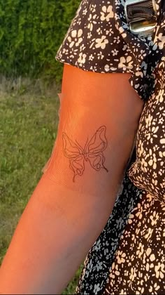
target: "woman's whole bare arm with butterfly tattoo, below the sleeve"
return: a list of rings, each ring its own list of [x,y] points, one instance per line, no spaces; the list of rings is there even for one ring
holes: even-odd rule
[[[106,225],[143,109],[129,76],[64,65],[55,149],[3,259],[2,294],[61,294]]]

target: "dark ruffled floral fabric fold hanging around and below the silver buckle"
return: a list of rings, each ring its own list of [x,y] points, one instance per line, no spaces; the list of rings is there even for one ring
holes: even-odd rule
[[[146,101],[155,89],[155,67],[164,56],[164,51],[157,46],[159,28],[155,27],[152,36],[137,37],[129,29],[123,4],[116,5],[116,2],[113,1],[113,11],[115,13],[115,27],[136,60],[134,73],[131,74],[129,82],[141,99]],[[157,25],[160,21],[159,6],[157,6]]]

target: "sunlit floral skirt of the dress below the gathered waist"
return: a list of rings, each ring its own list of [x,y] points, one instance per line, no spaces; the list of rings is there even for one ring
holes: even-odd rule
[[[165,294],[165,204],[141,195],[127,219],[103,294]]]

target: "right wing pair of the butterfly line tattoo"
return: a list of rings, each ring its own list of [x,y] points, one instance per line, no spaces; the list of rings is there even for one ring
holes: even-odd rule
[[[96,171],[99,171],[101,168],[106,169],[103,165],[105,162],[103,150],[106,149],[107,144],[106,126],[101,126],[94,133],[85,150],[87,160]],[[108,172],[108,169],[106,171]]]

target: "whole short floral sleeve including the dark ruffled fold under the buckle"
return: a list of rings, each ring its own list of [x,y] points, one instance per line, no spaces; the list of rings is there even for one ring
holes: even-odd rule
[[[152,46],[150,37],[131,34],[124,1],[82,0],[55,58],[86,71],[131,73],[131,86],[148,100],[159,60]]]

